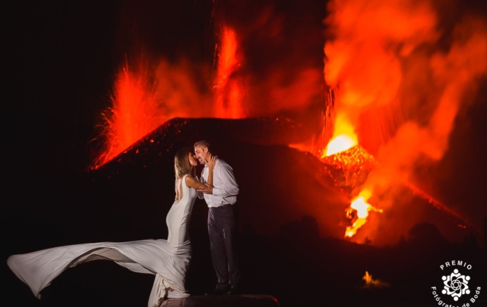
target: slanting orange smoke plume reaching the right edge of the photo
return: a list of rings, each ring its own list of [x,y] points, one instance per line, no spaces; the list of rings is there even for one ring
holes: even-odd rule
[[[422,156],[434,161],[442,158],[455,120],[461,120],[459,112],[468,109],[479,80],[487,74],[487,24],[478,19],[463,19],[453,36],[449,52],[434,52],[429,67],[424,68],[433,76],[431,82],[422,85],[423,93],[426,89],[433,93],[422,101],[429,104],[430,111],[408,114],[406,123],[378,153],[387,168],[401,174],[399,178],[407,179],[408,171]],[[407,95],[401,97],[401,102],[408,104]]]

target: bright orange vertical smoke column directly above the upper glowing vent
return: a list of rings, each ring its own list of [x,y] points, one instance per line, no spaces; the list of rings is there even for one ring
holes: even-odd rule
[[[369,150],[383,141],[388,128],[365,133],[367,116],[393,107],[403,82],[402,61],[415,48],[432,42],[436,14],[418,1],[332,1],[324,20],[330,37],[324,47],[325,81],[336,89],[336,113],[356,123],[359,139]],[[372,110],[372,111],[371,111]],[[369,112],[369,113],[367,113]],[[387,126],[393,118],[377,120]]]

